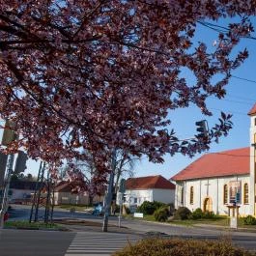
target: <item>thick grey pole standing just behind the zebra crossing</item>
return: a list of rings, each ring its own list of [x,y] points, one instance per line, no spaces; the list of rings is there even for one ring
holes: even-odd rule
[[[112,201],[115,169],[116,169],[116,150],[113,151],[112,157],[111,157],[111,172],[109,174],[107,194],[105,196],[105,209],[104,209],[104,217],[103,217],[103,225],[102,225],[103,232],[107,232],[108,216],[110,213],[110,206]]]

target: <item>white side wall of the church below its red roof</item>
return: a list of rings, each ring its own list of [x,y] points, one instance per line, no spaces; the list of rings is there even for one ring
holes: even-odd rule
[[[229,199],[229,182],[230,181],[241,181],[242,182],[242,204],[240,208],[240,214],[252,214],[250,211],[250,204],[252,198],[250,196],[250,186],[249,186],[249,204],[244,205],[243,202],[243,185],[247,183],[249,185],[249,175],[244,176],[229,176],[221,178],[212,178],[212,179],[200,179],[200,180],[191,180],[185,182],[179,182],[176,185],[176,194],[175,194],[175,208],[179,206],[185,206],[190,211],[194,211],[197,208],[203,210],[204,200],[206,197],[211,197],[213,200],[213,212],[218,214],[227,214],[228,208],[227,205],[223,203],[223,187],[228,185],[228,199]],[[208,185],[209,184],[209,185]],[[194,187],[194,202],[190,204],[190,187]],[[182,187],[184,187],[184,205],[182,204]],[[209,187],[209,190],[208,190]]]

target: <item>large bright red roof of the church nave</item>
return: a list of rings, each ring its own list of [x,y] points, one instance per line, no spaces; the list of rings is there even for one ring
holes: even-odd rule
[[[173,181],[249,174],[249,147],[201,156],[171,178]]]

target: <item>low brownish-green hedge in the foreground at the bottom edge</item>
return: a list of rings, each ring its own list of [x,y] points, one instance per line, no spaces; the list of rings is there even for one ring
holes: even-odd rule
[[[231,242],[198,241],[182,239],[150,239],[130,244],[113,256],[255,256],[232,245]]]

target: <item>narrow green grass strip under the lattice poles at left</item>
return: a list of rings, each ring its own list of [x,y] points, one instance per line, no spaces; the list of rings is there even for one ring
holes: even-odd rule
[[[45,224],[43,222],[31,222],[27,220],[14,220],[14,221],[6,221],[5,228],[17,228],[17,229],[58,229],[62,230],[63,227],[59,224],[48,223]]]

